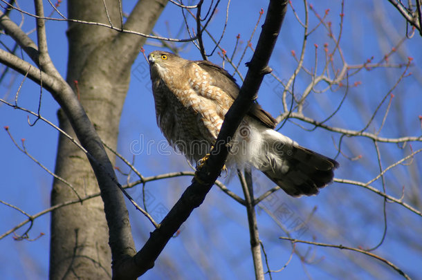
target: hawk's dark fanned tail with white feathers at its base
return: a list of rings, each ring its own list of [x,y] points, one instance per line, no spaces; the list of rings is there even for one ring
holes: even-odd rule
[[[251,153],[248,162],[287,194],[291,196],[318,194],[319,188],[325,187],[333,180],[333,170],[339,166],[336,160],[300,147],[273,129],[260,126],[256,132],[259,133],[257,137],[261,147],[257,147],[255,139],[255,147],[252,147],[255,151]]]

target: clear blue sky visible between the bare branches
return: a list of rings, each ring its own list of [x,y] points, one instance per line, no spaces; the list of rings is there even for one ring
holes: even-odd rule
[[[356,5],[356,2],[358,2],[358,5]],[[340,46],[346,61],[350,65],[361,64],[371,56],[374,56],[374,62],[378,62],[383,59],[385,53],[396,46],[398,40],[405,34],[404,20],[387,3],[382,6],[380,1],[356,2],[346,1],[345,3],[345,24]],[[26,6],[27,3],[21,4],[25,5],[22,7],[24,9],[33,10],[33,7]],[[127,5],[125,11],[129,12],[131,7],[129,4]],[[215,37],[219,37],[223,29],[226,17],[226,6],[224,5],[226,5],[226,1],[221,2],[217,15],[209,26],[210,32]],[[266,9],[266,6],[266,1],[242,3],[232,1],[229,7],[225,36],[221,41],[221,46],[227,50],[229,55],[232,54],[238,34],[241,35],[243,41],[243,44],[241,44],[241,50],[243,50],[245,41],[250,37],[256,24],[259,10],[261,8]],[[333,33],[338,35],[340,1],[321,1],[318,2],[318,6],[316,3],[314,6],[320,15],[323,15],[327,8],[330,9],[328,20],[333,23]],[[295,9],[303,19],[303,4],[295,3]],[[61,10],[66,14],[66,5],[62,4]],[[49,10],[47,11],[46,15],[49,13]],[[169,4],[154,31],[163,36],[176,34],[181,26],[181,19],[174,15],[179,15],[179,13],[179,8]],[[389,20],[377,24],[378,13],[385,15],[384,18]],[[20,19],[17,13],[12,14],[12,18],[16,21]],[[310,15],[310,23],[311,26],[315,26],[318,21]],[[33,26],[33,19],[27,18],[23,29],[28,31]],[[59,72],[65,77],[66,23],[51,21],[48,22],[47,28],[48,48],[51,57]],[[31,36],[35,38],[34,35]],[[256,44],[258,35],[259,27],[253,38],[253,46]],[[1,37],[3,39],[4,35],[1,35]],[[186,32],[183,32],[182,37],[187,37]],[[288,80],[296,66],[291,50],[295,50],[295,53],[299,55],[302,40],[303,28],[300,24],[297,24],[289,7],[282,32],[270,61],[274,73],[284,82]],[[10,43],[7,40],[5,41]],[[324,60],[323,46],[326,42],[329,43],[329,50],[332,50],[333,43],[327,36],[327,31],[323,28],[318,28],[309,36],[304,62],[307,68],[313,69],[315,64],[314,44],[318,44],[316,53],[318,55],[318,68],[321,69]],[[151,44],[157,44],[157,42],[149,41],[149,44],[145,46],[146,53],[157,48]],[[204,44],[208,51],[214,47],[214,44],[208,38],[205,38]],[[421,122],[418,118],[419,115],[422,115],[421,44],[421,37],[415,34],[412,39],[408,39],[398,48],[396,54],[389,58],[389,62],[392,64],[406,63],[407,56],[414,60],[410,68],[412,76],[406,77],[393,92],[395,97],[392,99],[390,113],[380,136],[398,138],[421,135]],[[187,44],[185,50],[181,52],[181,56],[187,59],[200,59],[199,51],[192,44]],[[239,56],[240,54],[237,53],[237,59],[239,59]],[[239,67],[242,75],[245,75],[247,71],[244,62],[247,62],[251,56],[252,53],[248,50]],[[235,59],[236,62],[237,59]],[[210,60],[221,64],[221,58],[217,53],[210,57]],[[336,67],[341,65],[339,57],[335,57],[335,64]],[[232,73],[232,68],[228,66],[226,68]],[[342,108],[338,111],[336,117],[327,124],[356,130],[365,127],[371,113],[389,89],[394,86],[402,72],[403,69],[397,68],[376,68],[371,71],[361,71],[358,75],[350,77],[349,84],[354,84],[354,82],[362,82],[362,84],[349,88],[347,99]],[[240,83],[239,77],[236,78]],[[7,84],[9,81],[12,81],[12,86]],[[21,81],[21,76],[15,77],[13,73],[9,73],[0,85],[1,98],[14,102],[15,92]],[[295,82],[295,93],[300,96],[300,93],[308,84],[309,75],[300,73],[297,82]],[[118,151],[129,160],[135,153],[136,168],[144,176],[163,174],[169,171],[189,171],[190,167],[183,156],[178,156],[172,152],[172,149],[165,147],[164,138],[156,126],[154,99],[149,86],[147,64],[143,55],[139,55],[132,67],[131,84],[120,122]],[[278,115],[282,111],[282,100],[278,91],[279,84],[275,83],[270,77],[265,78],[259,91],[259,102],[273,115]],[[39,92],[39,86],[26,80],[19,93],[19,105],[37,111]],[[344,88],[313,94],[309,96],[309,104],[304,112],[312,118],[324,120],[336,109],[344,94]],[[387,109],[388,100],[389,97],[385,104],[380,107],[380,113],[376,115],[374,124],[369,127],[369,132],[378,130]],[[41,113],[44,118],[57,124],[55,115],[57,109],[58,106],[49,93],[43,91]],[[10,133],[19,144],[21,139],[24,138],[28,152],[48,169],[53,170],[57,149],[57,131],[41,121],[37,122],[34,127],[28,126],[27,115],[27,113],[11,109],[2,104],[0,105],[0,126],[8,126]],[[30,120],[33,119],[33,117],[30,117]],[[295,121],[295,123],[312,128],[299,121]],[[322,129],[312,132],[305,131],[292,122],[286,122],[282,128],[282,133],[294,138],[305,147],[327,156],[333,157],[337,154],[334,143],[338,143],[340,138],[338,134],[329,133]],[[0,174],[3,176],[0,199],[12,205],[17,205],[30,214],[35,214],[48,207],[52,177],[18,150],[12,144],[6,131],[0,133],[0,143]],[[149,144],[151,149],[136,150],[137,143]],[[337,178],[366,182],[379,174],[376,153],[371,140],[346,138],[342,145],[342,151],[345,155],[349,157],[361,155],[362,158],[351,161],[343,155],[338,156],[337,160],[341,167],[336,173]],[[420,142],[412,143],[413,150],[420,149],[421,146]],[[384,168],[403,158],[410,151],[409,146],[406,146],[405,149],[398,149],[395,144],[379,144],[379,147],[383,156]],[[164,153],[163,149],[165,150]],[[118,166],[122,170],[128,170],[122,162],[118,162]],[[416,156],[414,165],[411,167],[400,166],[389,171],[386,175],[387,186],[389,187],[387,193],[400,197],[401,185],[405,185],[406,194],[421,195],[421,178],[414,176],[415,172],[418,174],[421,169],[421,157]],[[255,172],[255,176],[257,176],[255,180],[257,193],[263,192],[264,189],[271,186],[261,174]],[[125,182],[126,178],[120,176],[120,179]],[[234,192],[241,194],[237,178],[233,177],[229,182],[225,178],[221,178],[221,180],[227,183]],[[172,207],[189,183],[190,178],[188,177],[148,183],[149,203],[147,205],[149,209],[157,217],[160,216],[160,213],[163,213],[161,210],[165,211]],[[382,189],[380,180],[377,180],[373,185]],[[417,191],[418,188],[419,192]],[[414,189],[416,189],[416,192]],[[141,200],[139,187],[132,189],[130,192],[136,200]],[[405,196],[405,201],[410,204],[414,203],[411,198]],[[297,237],[305,240],[315,239],[326,243],[370,248],[376,245],[383,235],[383,200],[356,186],[334,183],[323,189],[319,196],[300,199],[288,198],[281,192],[277,192],[276,196],[273,197],[273,203],[268,201],[262,206],[275,215],[279,213],[277,211],[280,209],[291,212],[288,218],[279,216],[278,220],[288,230],[293,230],[294,221],[304,221],[306,227]],[[128,207],[131,212],[137,249],[140,249],[149,231],[152,230],[152,226],[145,221],[143,216],[132,211],[131,205],[128,205]],[[313,209],[316,210],[313,211]],[[366,211],[362,211],[363,209]],[[260,236],[268,254],[270,267],[274,270],[282,268],[289,259],[291,247],[286,241],[277,239],[278,236],[285,235],[277,226],[277,223],[264,212],[264,209],[259,208],[257,211]],[[25,219],[24,215],[5,205],[0,205],[0,213],[0,234]],[[311,213],[314,214],[310,218]],[[420,237],[418,239],[420,229],[419,232],[412,232],[412,230],[414,230],[414,225],[421,224],[421,217],[403,209],[400,205],[389,203],[387,203],[387,217],[389,222],[387,238],[383,245],[374,252],[396,263],[410,275],[417,277],[417,267],[422,261],[422,253],[418,246],[412,246],[411,241],[419,241],[420,243]],[[407,228],[412,230],[406,230]],[[17,242],[13,241],[11,236],[0,240],[0,248],[3,249],[3,252],[8,252],[8,254],[0,256],[0,261],[3,263],[2,268],[0,268],[1,279],[46,279],[48,276],[48,215],[37,218],[30,231],[30,237],[36,238],[40,233],[45,235],[37,241]],[[407,240],[409,240],[409,243],[406,243]],[[300,247],[302,252],[306,252],[308,248],[307,246],[297,246]],[[286,269],[273,274],[273,279],[282,279],[283,277],[284,279],[291,279],[292,277],[306,279],[306,273],[311,274],[314,279],[336,279],[326,269],[338,269],[340,270],[338,274],[341,274],[343,265],[345,272],[354,269],[356,279],[373,279],[374,275],[359,272],[360,269],[356,268],[362,265],[362,261],[374,265],[376,268],[380,263],[357,253],[351,253],[351,261],[347,258],[348,254],[343,251],[339,252],[337,249],[311,248],[308,256],[311,265],[302,265],[300,259],[293,256]],[[172,265],[169,265],[169,263]],[[206,198],[204,205],[196,209],[185,223],[180,236],[169,242],[163,255],[158,259],[156,268],[147,272],[145,279],[166,279],[166,273],[169,273],[172,269],[181,273],[185,279],[205,279],[205,276],[210,277],[210,275],[214,276],[214,279],[251,279],[253,266],[244,207],[238,205],[214,187]],[[34,273],[37,278],[34,278]],[[396,277],[398,277],[396,272],[386,268],[385,265],[381,265],[380,273],[379,275],[387,277],[386,279],[397,279]]]

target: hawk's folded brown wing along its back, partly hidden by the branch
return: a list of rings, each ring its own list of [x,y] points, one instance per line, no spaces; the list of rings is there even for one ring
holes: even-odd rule
[[[198,60],[195,63],[201,66],[203,70],[210,73],[211,77],[214,78],[212,86],[221,88],[224,92],[228,93],[233,100],[236,99],[237,95],[239,95],[240,88],[236,84],[236,80],[232,77],[232,75],[220,66],[206,60]],[[262,109],[257,102],[253,103],[248,114],[262,122],[266,127],[270,127],[271,129],[275,128],[276,120],[270,115],[270,113]]]

